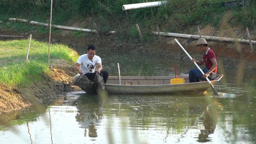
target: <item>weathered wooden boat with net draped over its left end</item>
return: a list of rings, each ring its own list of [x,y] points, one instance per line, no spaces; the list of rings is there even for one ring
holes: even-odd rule
[[[216,84],[223,74],[217,75],[212,84]],[[74,85],[79,86],[82,90],[93,93],[96,92],[96,86],[93,82],[84,80],[86,76],[82,76],[79,82]],[[180,94],[180,93],[198,93],[204,92],[210,85],[207,81],[189,83],[188,76],[180,78],[185,79],[185,83],[170,84],[172,76],[121,76],[121,84],[119,84],[118,76],[109,76],[108,82],[105,84],[109,94]],[[83,80],[83,81],[81,81]]]

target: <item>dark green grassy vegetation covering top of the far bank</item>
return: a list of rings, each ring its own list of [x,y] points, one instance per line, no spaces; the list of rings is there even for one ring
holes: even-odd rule
[[[140,41],[136,23],[140,26],[144,42],[154,41],[150,32],[156,31],[157,25],[164,32],[186,32],[192,26],[207,24],[218,28],[225,19],[231,26],[256,29],[255,0],[233,5],[227,3],[230,0],[168,0],[168,4],[160,7],[122,10],[123,4],[152,1],[155,0],[54,0],[52,23],[62,25],[70,20],[77,23],[86,21],[82,27],[95,29],[95,22],[103,34],[116,30],[116,41],[122,42]],[[47,23],[50,16],[50,1],[2,0],[0,7],[2,21],[18,17]],[[231,14],[224,18],[228,12]]]

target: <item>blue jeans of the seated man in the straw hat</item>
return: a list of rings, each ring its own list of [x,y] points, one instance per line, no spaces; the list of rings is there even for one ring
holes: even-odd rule
[[[208,72],[208,68],[204,68],[203,72]],[[216,74],[214,72],[210,73],[208,76],[209,80],[214,80],[216,78]],[[189,70],[189,82],[199,82],[200,80],[206,81],[206,78],[203,77],[203,74],[197,68],[191,68]]]

